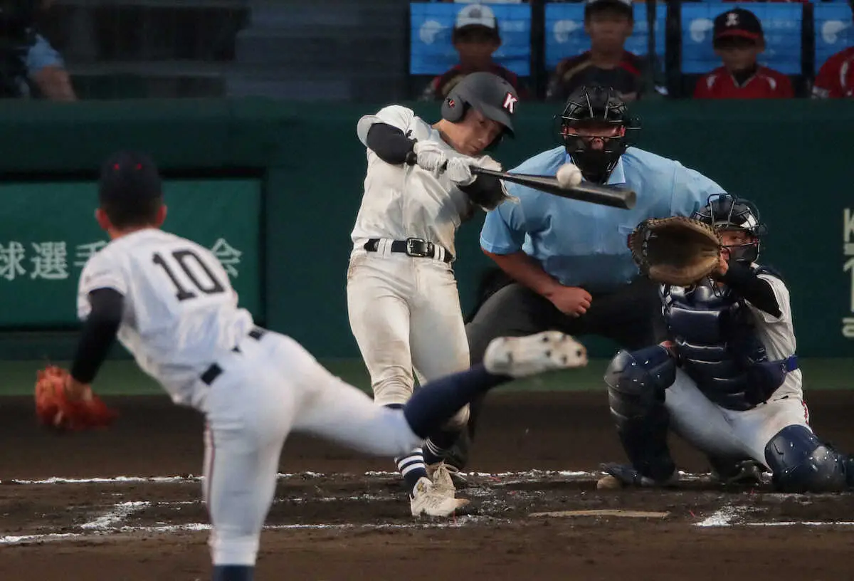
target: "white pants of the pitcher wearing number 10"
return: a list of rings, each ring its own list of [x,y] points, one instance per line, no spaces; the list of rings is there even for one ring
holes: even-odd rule
[[[395,457],[423,441],[401,410],[377,408],[363,391],[321,367],[290,337],[245,338],[218,361],[223,373],[200,403],[207,419],[203,495],[214,565],[254,565],[290,431]]]

